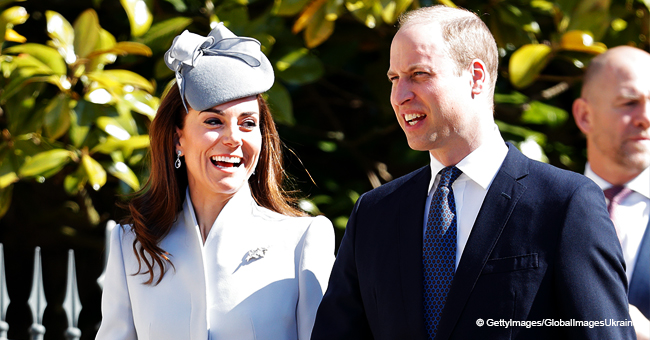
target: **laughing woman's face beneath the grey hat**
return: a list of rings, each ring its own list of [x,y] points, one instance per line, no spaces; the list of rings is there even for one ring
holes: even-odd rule
[[[189,108],[185,126],[176,128],[176,150],[185,156],[193,195],[232,196],[247,183],[262,147],[259,125],[260,109],[255,96],[204,111]]]

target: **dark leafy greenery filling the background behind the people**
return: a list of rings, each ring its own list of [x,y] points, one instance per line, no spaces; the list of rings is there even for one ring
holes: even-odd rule
[[[63,339],[67,327],[68,249],[76,252],[82,339],[94,338],[104,226],[124,216],[116,202],[147,176],[147,127],[173,78],[162,56],[174,36],[184,29],[205,35],[224,21],[262,42],[276,71],[269,101],[301,207],[329,217],[340,241],[361,193],[428,163],[406,144],[385,74],[397,16],[436,3],[0,0],[0,242],[12,301],[9,337],[28,338],[26,301],[40,246],[45,338]],[[584,139],[570,110],[584,67],[607,47],[647,49],[650,1],[440,3],[478,13],[497,39],[495,116],[504,137],[532,158],[582,172]],[[69,29],[52,24],[61,18]]]

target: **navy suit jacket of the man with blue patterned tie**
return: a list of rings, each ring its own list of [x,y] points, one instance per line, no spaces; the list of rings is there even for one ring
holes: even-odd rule
[[[436,340],[634,339],[629,326],[487,325],[630,319],[623,255],[602,191],[582,175],[508,146],[460,259]],[[428,338],[422,238],[430,180],[426,166],[358,199],[313,340]],[[477,326],[477,319],[485,325]]]

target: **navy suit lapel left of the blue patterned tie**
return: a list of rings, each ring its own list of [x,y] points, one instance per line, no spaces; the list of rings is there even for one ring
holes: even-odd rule
[[[399,200],[399,256],[402,281],[402,301],[409,328],[427,339],[424,327],[424,306],[422,304],[422,237],[424,206],[427,188],[431,181],[431,168],[421,169],[407,185],[404,185]]]

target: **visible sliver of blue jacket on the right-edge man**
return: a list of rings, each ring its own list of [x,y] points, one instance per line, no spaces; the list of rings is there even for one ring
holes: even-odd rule
[[[630,304],[635,305],[646,318],[650,318],[650,222],[643,233],[639,254],[630,279]]]

